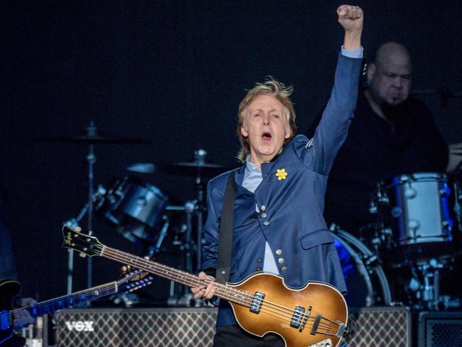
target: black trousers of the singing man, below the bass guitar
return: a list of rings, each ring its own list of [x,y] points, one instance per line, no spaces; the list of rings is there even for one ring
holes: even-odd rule
[[[217,326],[213,338],[213,347],[284,347],[286,344],[279,336],[267,333],[263,338],[247,333],[238,325]]]

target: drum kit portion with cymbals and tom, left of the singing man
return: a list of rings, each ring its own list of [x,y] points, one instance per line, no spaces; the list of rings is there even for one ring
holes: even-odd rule
[[[87,203],[80,212],[65,222],[70,228],[80,228],[85,223],[92,235],[92,220],[101,218],[109,223],[117,233],[136,243],[143,249],[144,256],[155,259],[161,252],[166,236],[171,233],[171,242],[181,252],[183,260],[178,268],[195,272],[202,264],[200,252],[203,245],[203,218],[205,213],[205,179],[227,171],[225,166],[206,160],[207,151],[197,149],[190,161],[174,163],[136,163],[127,166],[127,176],[114,178],[109,186],[98,184],[94,187],[95,144],[148,144],[144,140],[127,137],[104,136],[90,123],[85,132],[77,136],[40,137],[40,142],[87,144],[87,182],[89,185]],[[146,175],[179,174],[192,177],[195,198],[181,205],[172,205],[171,199],[158,187],[140,178]],[[81,228],[80,228],[81,229]],[[87,287],[92,287],[92,263],[87,257]],[[73,252],[68,254],[68,293],[72,292]],[[196,305],[188,288],[171,285],[168,304],[171,306]]]

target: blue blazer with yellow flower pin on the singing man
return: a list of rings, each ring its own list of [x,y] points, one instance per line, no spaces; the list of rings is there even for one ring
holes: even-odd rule
[[[313,139],[297,135],[273,161],[262,164],[263,181],[254,193],[242,187],[245,165],[237,172],[230,282],[239,282],[262,269],[267,241],[279,274],[289,287],[322,281],[346,292],[323,209],[328,173],[353,118],[361,62],[339,55],[331,98]],[[281,169],[287,173],[285,179],[276,176]],[[203,269],[217,266],[222,202],[229,174],[223,173],[208,183]],[[236,324],[229,304],[223,301],[217,326]]]

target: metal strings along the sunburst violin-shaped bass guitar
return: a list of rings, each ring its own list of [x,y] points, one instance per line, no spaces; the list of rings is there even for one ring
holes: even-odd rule
[[[131,265],[134,265],[134,262],[136,262],[136,265],[138,267],[140,267],[140,265],[146,266],[146,264],[150,263],[148,260],[145,260],[144,258],[136,257],[134,255],[130,255],[127,252],[122,252],[122,251],[119,251],[119,250],[112,249],[111,247],[104,246],[104,250],[102,250],[102,254],[111,253],[111,252],[113,254],[114,259],[116,259],[116,260],[118,260],[119,262],[122,262],[122,263],[127,263],[127,264],[131,263]],[[129,260],[129,261],[127,262],[127,260]],[[195,275],[189,274],[188,272],[183,272],[183,271],[178,270],[178,269],[167,267],[166,265],[161,265],[160,263],[157,263],[157,262],[151,262],[151,263],[154,264],[154,269],[153,269],[153,265],[149,265],[149,266],[146,266],[144,268],[144,270],[154,272],[156,274],[163,274],[164,276],[171,276],[171,274],[169,274],[169,272],[171,272],[171,273],[178,272],[179,274],[182,274],[181,277],[183,277],[183,281],[185,281],[185,278],[190,279],[189,284],[191,284],[191,287],[199,287],[199,286],[202,287],[203,284],[207,283],[207,282],[205,282],[205,281],[203,281],[201,279],[198,279],[198,277],[196,277]],[[156,269],[156,267],[164,267],[168,271],[162,272],[161,270]],[[142,267],[140,267],[140,268],[143,269]],[[172,279],[174,279],[174,278],[172,278]],[[220,291],[220,289],[221,289],[220,286],[224,287],[223,290],[225,291],[225,293]],[[240,299],[241,304],[251,306],[252,302],[254,301],[254,297],[252,296],[252,294],[249,294],[248,292],[241,291],[240,289],[230,288],[230,287],[227,287],[227,286],[225,286],[223,284],[217,284],[217,294],[227,294],[227,291],[228,292],[230,292],[230,291],[241,292],[241,294],[240,294],[240,296],[242,297]],[[220,293],[220,292],[222,292],[222,293]],[[236,297],[238,297],[238,296],[235,295],[235,297],[231,297],[231,296],[228,295],[228,297],[230,297],[231,300],[236,300]],[[226,299],[226,297],[224,299]],[[247,299],[247,301],[245,301],[246,299]],[[261,301],[261,300],[258,300],[258,301]],[[237,303],[239,304],[239,301]],[[293,310],[289,309],[289,307],[281,306],[279,304],[276,304],[276,303],[273,303],[272,301],[267,301],[267,300],[263,300],[262,304],[267,304],[268,306],[271,306],[271,305],[274,306],[274,307],[268,307],[268,308],[264,308],[262,306],[262,310],[265,309],[266,311],[271,311],[272,313],[275,313],[277,310],[279,310],[279,311],[282,312],[282,314],[284,314],[285,318],[289,319],[289,321],[291,321],[294,318],[293,315],[291,314],[293,312]],[[303,314],[299,314],[299,316],[300,316],[299,320],[295,319],[297,321],[297,323],[301,323],[301,321],[304,321],[306,319],[306,316],[308,316],[308,314],[303,313]],[[324,320],[330,321],[331,323],[337,324],[335,321],[332,321],[331,319],[327,319],[326,317],[322,317],[321,319],[324,319]],[[311,321],[316,321],[316,317],[308,316],[308,319],[306,319],[306,321],[307,322],[308,321],[310,321],[310,322]],[[329,329],[331,329],[331,324],[322,324],[321,323],[321,324],[319,324],[319,327],[329,330]]]

